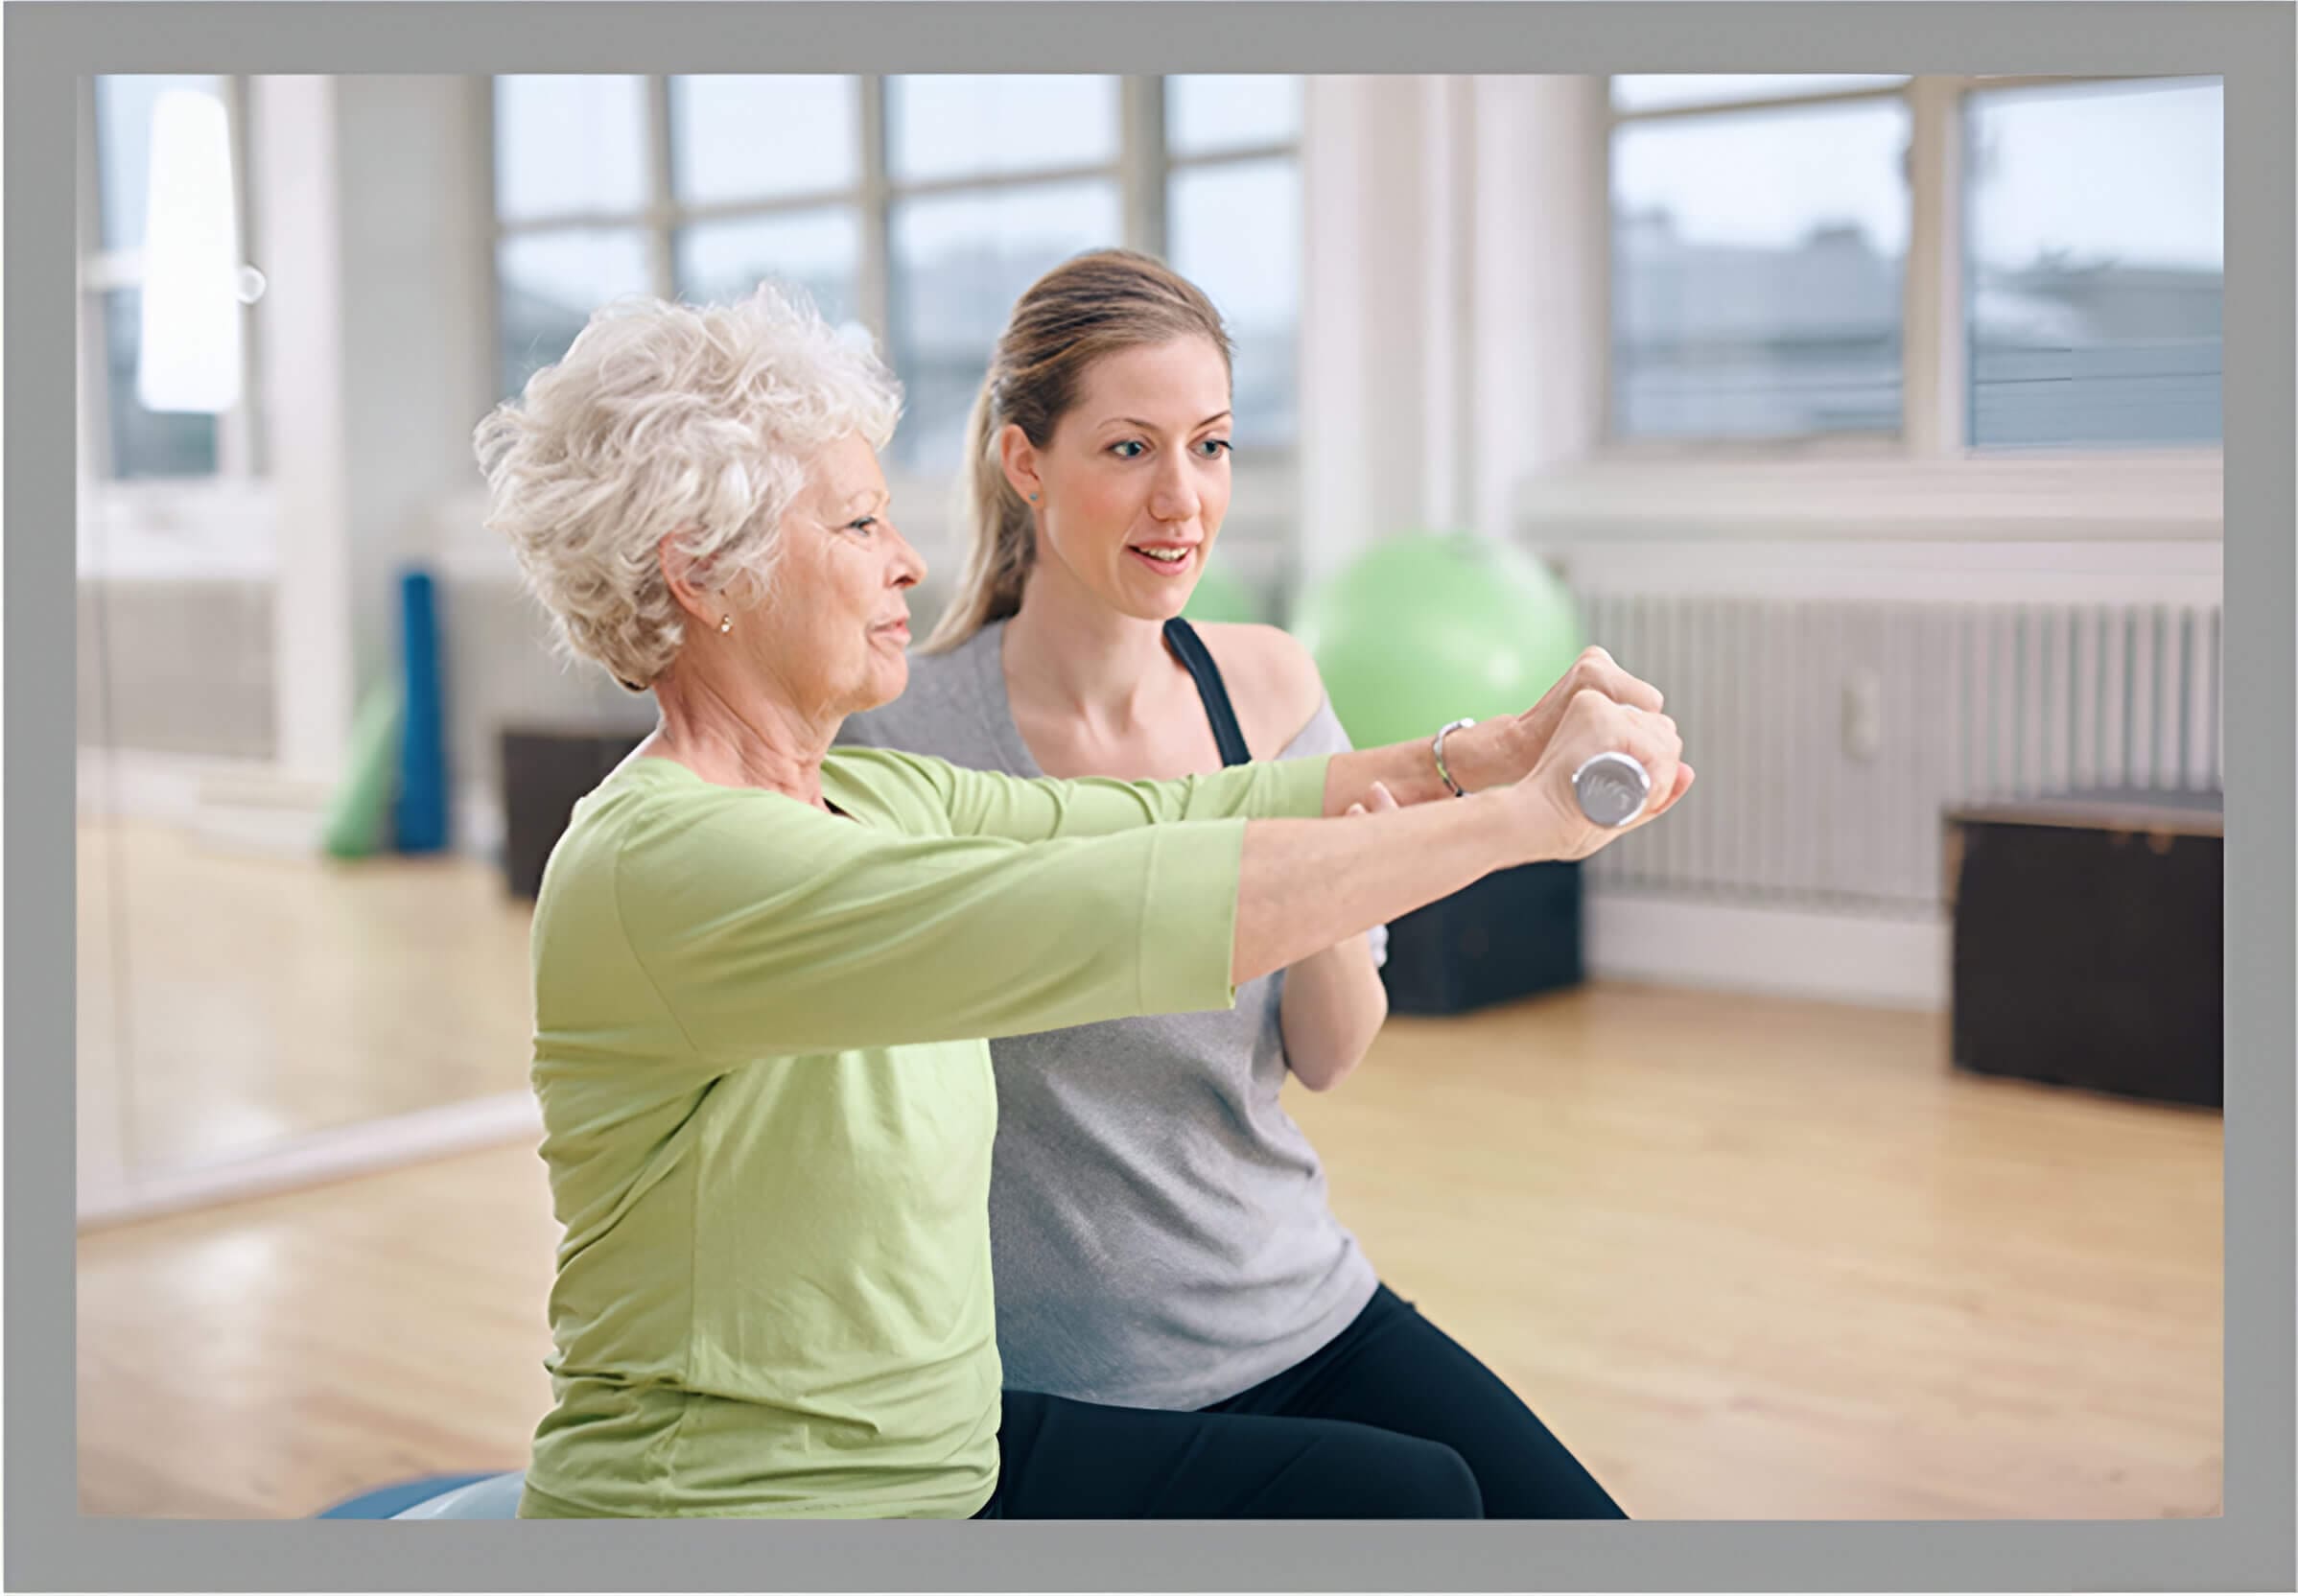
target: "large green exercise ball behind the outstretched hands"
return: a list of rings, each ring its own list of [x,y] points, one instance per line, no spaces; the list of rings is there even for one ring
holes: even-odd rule
[[[1291,632],[1358,747],[1521,713],[1581,651],[1579,607],[1556,573],[1466,534],[1372,545],[1305,596]]]

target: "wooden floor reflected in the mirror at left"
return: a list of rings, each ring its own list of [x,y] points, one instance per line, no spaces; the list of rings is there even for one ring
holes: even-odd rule
[[[531,915],[478,860],[80,816],[76,897],[83,1187],[526,1090]]]

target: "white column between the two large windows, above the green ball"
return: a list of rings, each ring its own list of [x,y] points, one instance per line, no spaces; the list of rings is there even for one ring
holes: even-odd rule
[[[1301,568],[1411,527],[1514,536],[1597,439],[1602,80],[1310,78]]]

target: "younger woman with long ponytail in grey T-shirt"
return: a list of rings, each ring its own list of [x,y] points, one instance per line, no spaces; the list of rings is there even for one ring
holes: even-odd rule
[[[1020,777],[1170,780],[1347,750],[1317,667],[1266,626],[1181,621],[1229,504],[1229,340],[1128,251],[1023,294],[967,430],[970,552],[910,690],[843,738]],[[1581,688],[1659,692],[1590,651],[1533,711],[1450,731],[1418,803],[1491,784]],[[1429,727],[1436,734],[1436,727]],[[1009,1389],[1347,1419],[1443,1442],[1489,1518],[1622,1518],[1475,1357],[1381,1286],[1280,1106],[1337,1085],[1386,1016],[1379,931],[1234,1010],[993,1042],[997,1345]]]

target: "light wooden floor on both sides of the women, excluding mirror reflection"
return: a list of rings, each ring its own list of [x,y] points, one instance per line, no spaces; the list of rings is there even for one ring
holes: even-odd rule
[[[1386,1279],[1638,1518],[2220,1506],[2215,1115],[1622,987],[1390,1021],[1291,1108]],[[83,1511],[522,1465],[554,1242],[533,1148],[83,1237]]]

